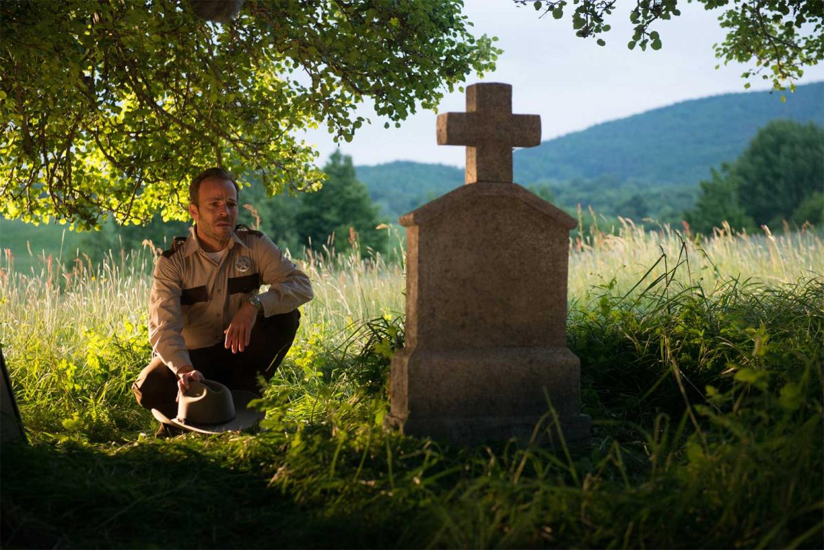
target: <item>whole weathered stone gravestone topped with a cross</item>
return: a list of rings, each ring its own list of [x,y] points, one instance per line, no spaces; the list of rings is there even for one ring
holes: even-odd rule
[[[525,440],[551,403],[565,439],[587,444],[565,333],[576,223],[512,181],[512,148],[541,142],[541,118],[512,114],[508,84],[469,86],[466,111],[438,116],[438,144],[466,146],[466,184],[400,218],[406,333],[387,423],[461,445]]]

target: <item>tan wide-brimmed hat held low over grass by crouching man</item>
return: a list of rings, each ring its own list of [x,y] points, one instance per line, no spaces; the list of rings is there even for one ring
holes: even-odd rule
[[[246,408],[257,395],[242,389],[228,389],[214,380],[192,380],[189,389],[180,392],[179,396],[176,418],[167,418],[157,408],[152,408],[154,417],[160,422],[204,434],[245,430],[265,417],[264,413]]]

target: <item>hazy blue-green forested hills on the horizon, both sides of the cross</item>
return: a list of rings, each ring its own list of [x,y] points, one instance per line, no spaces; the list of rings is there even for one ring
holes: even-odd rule
[[[710,167],[735,160],[770,120],[824,124],[824,82],[786,95],[784,103],[777,92],[710,96],[597,124],[516,151],[515,180],[527,186],[564,187],[583,179],[588,187],[601,181],[611,188],[631,182],[697,189]],[[447,165],[398,161],[356,169],[391,218],[463,183],[463,170]]]

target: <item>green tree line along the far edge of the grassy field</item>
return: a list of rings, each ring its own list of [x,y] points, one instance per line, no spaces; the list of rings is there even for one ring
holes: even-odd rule
[[[302,254],[304,247],[320,251],[327,245],[346,253],[355,243],[363,256],[385,253],[386,224],[396,220],[381,216],[366,185],[356,177],[352,157],[336,151],[323,171],[326,178],[323,186],[311,193],[270,197],[259,180],[247,181],[239,196],[243,206],[239,221],[264,231],[296,255]],[[553,203],[567,204],[574,196],[578,202],[592,203],[596,212],[605,212],[598,207],[602,193],[594,193],[595,189],[604,189],[603,183],[536,184],[529,189]],[[616,212],[636,221],[648,215],[651,208],[668,203],[668,207],[658,208],[662,214],[658,221],[677,224],[684,220],[692,232],[704,235],[711,233],[713,227],[721,226],[723,221],[736,230],[750,232],[758,231],[763,225],[773,231],[780,230],[784,221],[794,229],[805,223],[821,226],[824,221],[824,129],[791,120],[766,124],[741,156],[713,169],[709,179],[700,181],[692,207],[693,198],[686,189],[631,183],[616,184],[602,199],[610,203],[606,212]],[[426,197],[418,198],[419,203],[426,200]],[[419,204],[410,210],[417,206]],[[602,206],[606,208],[606,204]],[[189,225],[183,221],[164,222],[159,214],[146,226],[120,226],[108,221],[100,232],[85,234],[82,249],[94,256],[105,254],[108,249],[137,249],[144,240],[162,245],[164,241],[171,242],[173,236],[186,235]]]

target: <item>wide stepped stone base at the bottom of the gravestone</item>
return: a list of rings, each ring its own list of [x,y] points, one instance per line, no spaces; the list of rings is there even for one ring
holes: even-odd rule
[[[566,347],[402,349],[392,358],[387,426],[459,445],[556,440],[550,403],[569,445],[588,445],[580,361]],[[550,428],[547,430],[547,428]]]

